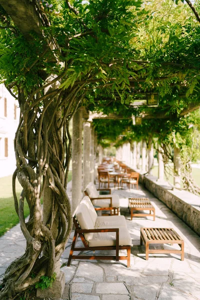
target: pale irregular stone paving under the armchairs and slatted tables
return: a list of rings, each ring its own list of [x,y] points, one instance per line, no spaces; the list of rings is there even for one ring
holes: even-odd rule
[[[126,267],[125,260],[72,260],[70,267],[61,268],[65,273],[62,299],[200,299],[200,237],[142,186],[138,190],[124,188],[112,192],[119,194],[120,211],[131,234],[131,267]],[[155,206],[155,221],[150,216],[136,217],[130,221],[127,209],[129,196],[148,197]],[[173,227],[185,242],[184,261],[180,260],[180,254],[149,254],[149,259],[145,260],[144,246],[139,245],[140,227]],[[62,254],[62,264],[67,262],[72,236],[73,232]],[[163,245],[154,247],[160,246]],[[164,247],[170,248],[169,245]],[[0,279],[5,268],[23,253],[24,248],[25,241],[19,225],[0,237]]]

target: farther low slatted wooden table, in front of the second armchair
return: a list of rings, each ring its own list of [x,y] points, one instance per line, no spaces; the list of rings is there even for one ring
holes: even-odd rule
[[[133,216],[153,216],[153,221],[155,220],[155,208],[148,198],[128,198],[128,207],[130,209],[131,220]],[[149,213],[133,213],[133,210],[149,210]]]

